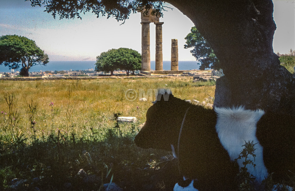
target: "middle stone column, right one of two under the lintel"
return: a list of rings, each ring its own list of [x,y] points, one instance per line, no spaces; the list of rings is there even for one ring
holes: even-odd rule
[[[156,25],[156,70],[163,70],[162,24],[164,22],[154,23]]]

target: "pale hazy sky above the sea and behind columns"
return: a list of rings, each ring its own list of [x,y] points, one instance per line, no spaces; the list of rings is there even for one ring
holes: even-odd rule
[[[295,0],[274,0],[273,17],[277,29],[274,52],[295,49]],[[170,60],[171,39],[178,39],[179,60],[196,60],[190,49],[184,49],[184,37],[194,24],[175,7],[168,5],[163,24],[163,60]],[[49,55],[50,61],[96,60],[101,52],[126,47],[141,53],[140,13],[131,14],[125,24],[114,18],[96,18],[91,12],[80,19],[53,19],[44,7],[31,7],[30,1],[0,0],[0,36],[17,34],[36,42]],[[155,60],[155,25],[150,24],[150,53]]]

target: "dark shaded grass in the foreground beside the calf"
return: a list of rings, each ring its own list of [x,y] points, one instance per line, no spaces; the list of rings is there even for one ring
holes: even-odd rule
[[[171,155],[137,147],[134,136],[93,141],[51,134],[30,144],[1,137],[1,190],[104,190],[110,182],[123,190],[173,190],[176,163],[163,157]]]

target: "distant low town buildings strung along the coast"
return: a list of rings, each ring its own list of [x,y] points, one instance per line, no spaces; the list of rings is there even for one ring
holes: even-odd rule
[[[140,71],[135,71],[135,74],[138,74]],[[132,73],[132,72],[131,72]],[[42,72],[29,72],[29,77],[87,77],[87,76],[102,76],[105,74],[110,74],[110,73],[104,73],[104,72],[96,72],[93,68],[88,69],[88,70],[61,70],[61,71],[45,71]],[[124,70],[115,70],[114,75],[124,75],[126,74],[126,71]],[[0,78],[3,77],[20,77],[19,76],[19,71],[15,71],[14,69],[11,70],[11,72],[0,72]]]

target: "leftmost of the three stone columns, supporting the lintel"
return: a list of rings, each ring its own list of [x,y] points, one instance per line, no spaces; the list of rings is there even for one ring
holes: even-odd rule
[[[150,23],[141,21],[141,70],[150,71]]]

